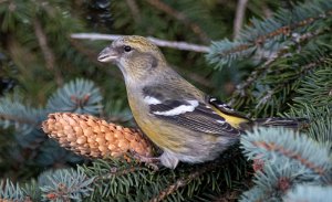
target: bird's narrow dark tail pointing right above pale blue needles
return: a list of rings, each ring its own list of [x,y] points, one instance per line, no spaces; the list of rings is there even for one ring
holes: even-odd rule
[[[255,126],[262,126],[262,127],[284,127],[291,129],[303,129],[309,126],[309,120],[305,118],[258,118],[250,124],[248,123],[245,128],[252,128]]]

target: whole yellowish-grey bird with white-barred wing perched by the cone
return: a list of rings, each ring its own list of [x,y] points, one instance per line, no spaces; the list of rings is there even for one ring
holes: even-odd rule
[[[141,130],[163,151],[159,162],[200,163],[218,158],[253,125],[297,127],[297,119],[250,119],[181,77],[157,45],[138,35],[114,40],[97,56],[121,70]]]

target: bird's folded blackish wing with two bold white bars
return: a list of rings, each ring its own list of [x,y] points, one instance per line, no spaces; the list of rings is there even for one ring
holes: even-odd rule
[[[149,114],[155,118],[185,127],[198,132],[237,136],[240,130],[234,127],[218,113],[219,109],[207,102],[199,102],[195,96],[169,96],[158,91],[145,91],[145,103],[149,106]],[[167,92],[167,91],[166,91]],[[176,98],[170,98],[176,97]]]

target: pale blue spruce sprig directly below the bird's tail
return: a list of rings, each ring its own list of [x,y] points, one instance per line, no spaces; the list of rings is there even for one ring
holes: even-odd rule
[[[241,137],[241,143],[249,159],[283,159],[322,178],[331,172],[329,148],[319,146],[305,135],[283,128],[255,128],[248,136]]]

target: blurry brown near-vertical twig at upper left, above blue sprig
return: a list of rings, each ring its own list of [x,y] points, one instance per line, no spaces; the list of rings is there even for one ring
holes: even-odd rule
[[[34,33],[38,39],[39,46],[42,50],[42,53],[44,55],[46,68],[54,73],[56,84],[59,86],[62,86],[63,84],[62,75],[60,71],[55,67],[55,56],[52,50],[50,49],[50,46],[48,45],[46,34],[43,32],[43,29],[39,20],[34,19],[33,26],[34,26]]]

